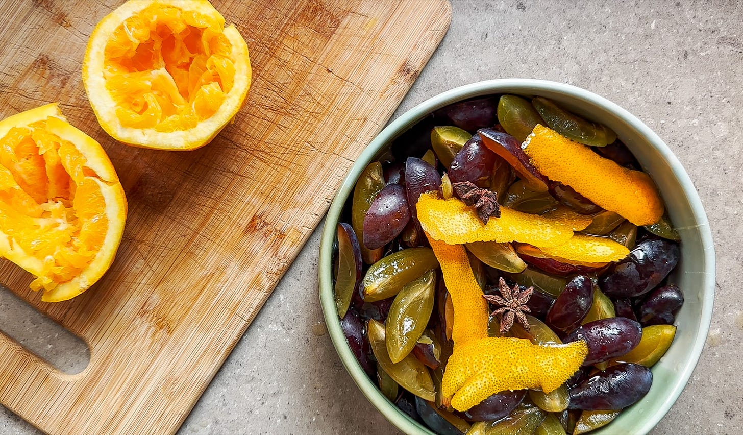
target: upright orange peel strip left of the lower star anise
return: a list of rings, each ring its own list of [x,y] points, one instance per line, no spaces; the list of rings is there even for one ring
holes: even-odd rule
[[[447,245],[430,236],[428,240],[441,265],[444,284],[454,306],[452,340],[455,346],[487,337],[487,300],[482,297],[464,246]]]

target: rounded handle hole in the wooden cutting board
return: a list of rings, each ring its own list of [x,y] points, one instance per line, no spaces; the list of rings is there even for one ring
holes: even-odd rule
[[[1,285],[0,294],[2,332],[68,375],[88,367],[91,352],[85,341]]]

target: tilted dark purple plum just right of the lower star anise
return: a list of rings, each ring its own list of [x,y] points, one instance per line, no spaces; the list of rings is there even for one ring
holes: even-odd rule
[[[591,278],[578,275],[565,286],[552,308],[547,312],[547,323],[552,329],[565,333],[572,332],[588,314],[594,300],[594,287]],[[590,345],[588,349],[590,349]]]

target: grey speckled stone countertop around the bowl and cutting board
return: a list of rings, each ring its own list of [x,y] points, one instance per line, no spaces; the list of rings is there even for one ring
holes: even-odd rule
[[[478,80],[555,80],[613,100],[675,152],[710,219],[717,286],[707,347],[655,435],[739,434],[743,428],[741,23],[743,3],[735,0],[452,0],[449,33],[395,114]],[[179,434],[396,432],[357,390],[324,333],[318,249],[319,230]],[[20,325],[16,337],[31,329],[38,334],[36,320],[19,319],[6,303],[0,309],[4,329]],[[65,356],[73,341],[36,345],[75,371],[80,363]],[[13,413],[0,413],[0,434],[34,433]]]

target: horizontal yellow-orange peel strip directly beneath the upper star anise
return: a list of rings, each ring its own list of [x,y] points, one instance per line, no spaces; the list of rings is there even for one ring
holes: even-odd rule
[[[438,199],[435,192],[422,193],[415,207],[429,239],[447,245],[523,242],[540,248],[557,246],[567,242],[573,236],[573,228],[580,226],[573,219],[544,218],[503,206],[501,217],[483,224],[473,208],[456,198]]]

